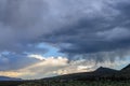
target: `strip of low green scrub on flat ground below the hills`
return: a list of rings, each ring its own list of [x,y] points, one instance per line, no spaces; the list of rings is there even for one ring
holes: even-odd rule
[[[72,82],[31,82],[18,86],[130,86],[130,81],[72,81]]]

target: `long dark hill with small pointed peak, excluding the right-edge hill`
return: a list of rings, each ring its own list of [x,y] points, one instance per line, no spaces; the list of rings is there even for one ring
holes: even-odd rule
[[[65,74],[49,78],[42,78],[42,80],[54,80],[54,81],[93,81],[102,77],[110,77],[113,74],[117,73],[117,70],[109,69],[109,68],[103,68],[100,67],[95,71],[92,72],[83,72],[83,73],[73,73],[73,74]]]

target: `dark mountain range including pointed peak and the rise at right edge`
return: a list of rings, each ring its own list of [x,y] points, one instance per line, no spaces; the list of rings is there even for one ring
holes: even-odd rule
[[[109,68],[100,67],[92,72],[65,74],[42,80],[54,81],[94,81],[94,80],[129,80],[130,78],[130,64],[121,70],[115,70]]]

